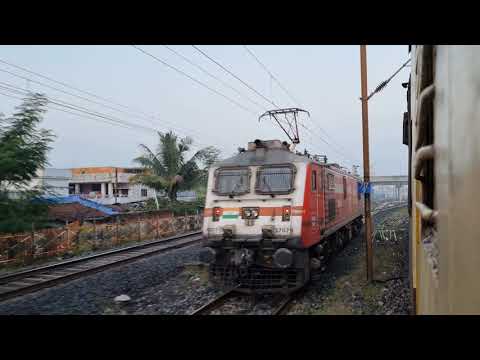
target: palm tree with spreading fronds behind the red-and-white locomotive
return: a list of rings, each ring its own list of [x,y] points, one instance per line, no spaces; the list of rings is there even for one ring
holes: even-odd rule
[[[140,164],[144,171],[134,176],[131,181],[155,191],[165,191],[170,201],[177,199],[179,190],[192,189],[199,183],[206,185],[207,168],[218,159],[220,151],[209,146],[197,151],[187,161],[185,156],[193,143],[191,138],[180,139],[172,131],[159,132],[158,136],[156,152],[140,144],[144,154],[134,161]]]

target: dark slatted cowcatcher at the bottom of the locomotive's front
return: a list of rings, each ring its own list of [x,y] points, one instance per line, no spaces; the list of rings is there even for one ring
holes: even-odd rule
[[[250,266],[240,269],[233,266],[211,265],[210,279],[223,286],[239,286],[249,292],[293,291],[305,282],[303,269],[273,269]]]

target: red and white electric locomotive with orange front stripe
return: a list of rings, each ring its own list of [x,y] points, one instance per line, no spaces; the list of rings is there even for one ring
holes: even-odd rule
[[[363,223],[361,179],[280,140],[255,140],[209,169],[210,279],[246,293],[294,292]]]

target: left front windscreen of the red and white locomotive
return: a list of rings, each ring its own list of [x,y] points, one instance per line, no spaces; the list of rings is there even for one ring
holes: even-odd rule
[[[214,192],[218,195],[241,195],[250,192],[250,170],[248,168],[217,169]]]

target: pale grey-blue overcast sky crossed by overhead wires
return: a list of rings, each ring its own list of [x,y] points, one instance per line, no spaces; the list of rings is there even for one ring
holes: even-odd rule
[[[0,70],[28,77],[21,79],[0,71],[0,85],[12,84],[49,95],[52,99],[82,106],[108,117],[189,135],[197,146],[216,145],[223,157],[256,138],[286,140],[270,120],[258,121],[273,105],[227,74],[191,46],[170,46],[200,65],[243,96],[209,77],[163,46],[141,46],[216,91],[242,109],[131,46],[1,46],[0,60],[22,66],[119,105],[63,87],[44,78],[0,63]],[[292,100],[243,46],[199,46],[280,107],[302,107],[311,118],[301,121],[301,144],[311,153],[326,154],[329,161],[362,166],[362,127],[359,46],[249,46],[266,65]],[[407,46],[368,46],[368,88],[373,90],[408,58]],[[402,118],[410,68],[403,69],[387,88],[369,102],[370,155],[374,174],[407,173],[407,147],[402,145]],[[124,111],[94,104],[35,83],[39,81]],[[2,84],[3,83],[3,84]],[[0,88],[0,112],[10,115],[20,96]],[[248,98],[248,99],[247,99]],[[258,106],[258,103],[260,106]],[[121,107],[122,106],[122,107]],[[128,109],[127,109],[128,108]],[[67,111],[71,109],[63,108]],[[126,113],[125,113],[126,112]],[[252,113],[253,112],[253,113]],[[86,116],[86,115],[82,115]],[[99,119],[99,118],[97,118]],[[131,166],[140,154],[138,145],[155,147],[153,132],[125,129],[90,118],[50,109],[42,127],[57,138],[49,159],[52,167]],[[325,144],[319,138],[324,138]]]

